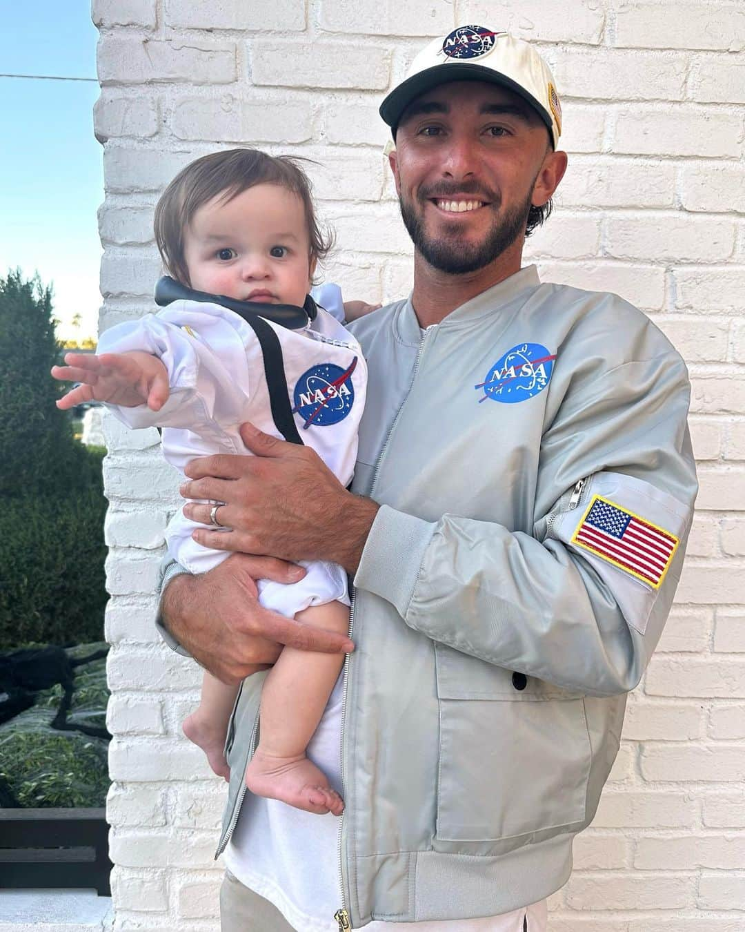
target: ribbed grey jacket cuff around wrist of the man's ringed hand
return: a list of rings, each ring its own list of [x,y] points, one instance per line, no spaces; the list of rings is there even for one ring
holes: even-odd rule
[[[406,617],[425,552],[437,525],[381,505],[362,551],[354,583]]]

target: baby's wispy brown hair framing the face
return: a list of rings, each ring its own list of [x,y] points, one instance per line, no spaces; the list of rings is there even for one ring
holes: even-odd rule
[[[332,248],[332,237],[324,235],[318,226],[310,179],[297,160],[268,156],[259,149],[228,149],[191,162],[170,182],[157,202],[156,243],[172,278],[191,285],[183,246],[184,234],[196,211],[218,195],[232,200],[253,185],[279,185],[298,195],[305,208],[310,257],[325,258]]]

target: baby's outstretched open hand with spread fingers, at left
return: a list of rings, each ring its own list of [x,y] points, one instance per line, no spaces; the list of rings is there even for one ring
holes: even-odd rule
[[[52,366],[52,376],[66,382],[82,382],[57,402],[66,411],[89,401],[137,407],[147,404],[159,411],[169,398],[169,374],[157,359],[146,352],[65,354],[67,365]]]

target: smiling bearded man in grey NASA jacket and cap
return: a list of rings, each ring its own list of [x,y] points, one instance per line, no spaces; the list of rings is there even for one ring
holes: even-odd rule
[[[233,529],[198,540],[244,554],[204,577],[171,567],[163,598],[201,663],[248,676],[227,742],[223,927],[333,929],[335,910],[341,929],[540,932],[680,575],[697,490],[687,375],[616,295],[521,268],[566,167],[534,48],[455,30],[381,114],[414,284],[355,325],[370,382],[354,494],[250,425],[255,457],[197,460],[183,487],[225,502]],[[185,511],[209,523],[210,505]],[[356,586],[355,650],[308,748],[333,774],[341,744],[338,843],[333,819],[241,779],[249,674],[277,642],[350,648],[256,605],[253,576],[290,580],[281,560],[310,558]]]

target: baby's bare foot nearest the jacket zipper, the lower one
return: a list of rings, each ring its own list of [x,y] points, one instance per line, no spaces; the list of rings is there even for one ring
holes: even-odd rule
[[[326,776],[305,755],[280,758],[265,754],[261,746],[246,769],[246,786],[256,796],[287,802],[296,809],[323,816],[340,816],[341,796],[329,786]]]

